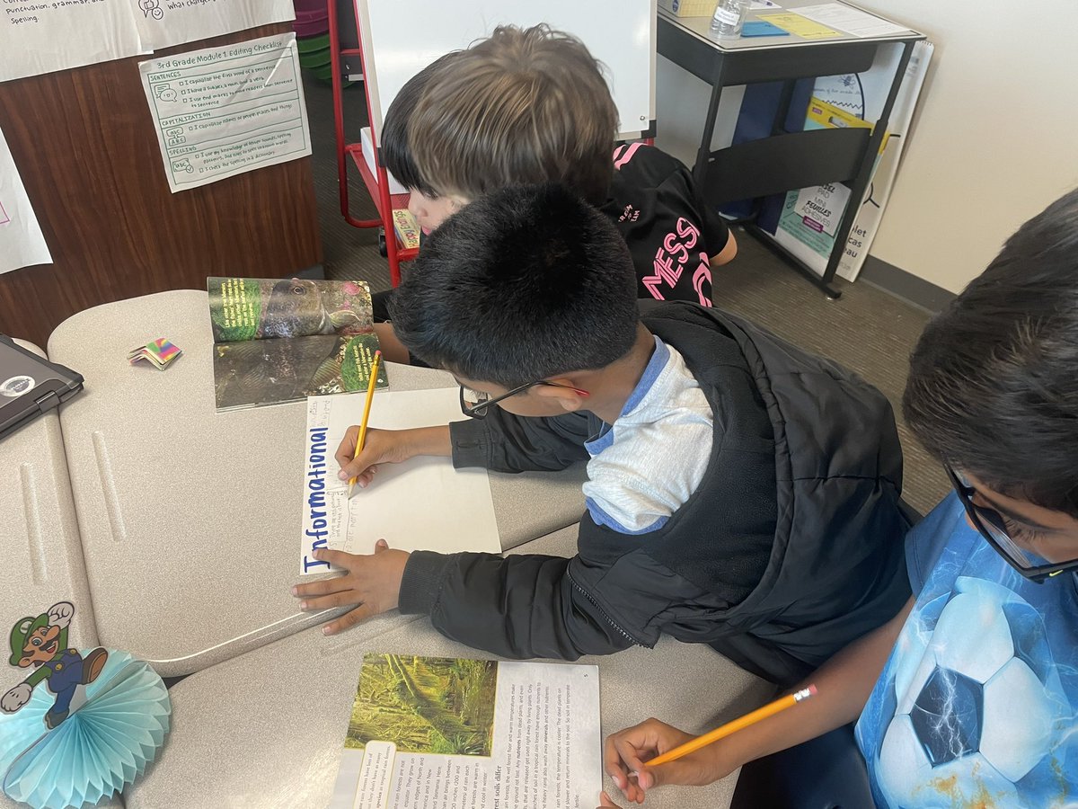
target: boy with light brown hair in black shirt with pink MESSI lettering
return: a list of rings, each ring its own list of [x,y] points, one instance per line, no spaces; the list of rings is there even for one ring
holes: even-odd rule
[[[639,298],[710,305],[710,268],[730,261],[736,242],[680,162],[644,143],[616,147],[617,133],[583,43],[545,25],[501,26],[405,84],[382,152],[425,232],[506,186],[562,182],[614,222]]]

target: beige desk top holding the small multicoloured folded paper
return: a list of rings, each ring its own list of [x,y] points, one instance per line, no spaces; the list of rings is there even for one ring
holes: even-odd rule
[[[304,402],[218,413],[208,297],[161,292],[73,315],[49,356],[85,376],[60,413],[102,645],[189,674],[306,627],[299,580]],[[167,338],[165,371],[126,354]],[[395,389],[455,384],[387,364]],[[583,466],[490,475],[503,548],[580,519]],[[336,612],[341,612],[337,609]],[[367,631],[360,628],[359,634]]]

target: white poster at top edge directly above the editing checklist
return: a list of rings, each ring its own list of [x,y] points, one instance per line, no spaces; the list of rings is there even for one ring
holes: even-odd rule
[[[157,51],[198,39],[295,19],[292,0],[127,0],[147,47]]]

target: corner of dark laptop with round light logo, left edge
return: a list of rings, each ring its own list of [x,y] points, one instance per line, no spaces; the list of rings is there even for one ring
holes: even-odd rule
[[[0,334],[0,439],[82,390],[82,375]]]

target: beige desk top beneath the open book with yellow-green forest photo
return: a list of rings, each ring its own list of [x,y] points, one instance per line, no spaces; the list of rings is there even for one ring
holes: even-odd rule
[[[575,547],[576,526],[569,526],[511,552],[570,556]],[[326,806],[364,654],[489,657],[447,640],[416,616],[393,612],[367,628],[330,637],[306,629],[172,686],[171,733],[146,777],[125,791],[126,805]],[[654,649],[636,647],[580,662],[599,667],[604,737],[648,716],[703,732],[774,695],[774,686],[710,647],[669,637]],[[724,809],[735,781],[736,773],[707,787],[663,787],[646,806]],[[614,791],[609,779],[605,787]]]

